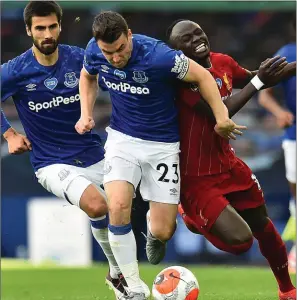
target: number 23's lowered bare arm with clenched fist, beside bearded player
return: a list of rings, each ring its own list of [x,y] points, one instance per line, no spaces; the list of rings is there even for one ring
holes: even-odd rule
[[[79,79],[81,117],[75,125],[79,134],[90,131],[95,126],[93,109],[98,93],[98,81],[96,75],[90,75],[84,68]]]

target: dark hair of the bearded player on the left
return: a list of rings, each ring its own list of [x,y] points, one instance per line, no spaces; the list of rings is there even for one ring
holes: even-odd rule
[[[55,14],[61,23],[63,12],[56,1],[30,1],[24,10],[24,21],[31,29],[32,17],[46,17],[51,14]]]

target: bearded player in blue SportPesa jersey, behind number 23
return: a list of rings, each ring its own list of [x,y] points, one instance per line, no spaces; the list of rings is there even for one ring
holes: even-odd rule
[[[1,111],[1,131],[9,153],[30,151],[39,183],[90,218],[94,238],[110,266],[106,283],[125,293],[108,241],[106,196],[101,188],[104,149],[93,131],[79,135],[79,77],[84,49],[58,43],[62,10],[55,1],[32,1],[24,21],[33,46],[1,66],[1,101],[12,97],[26,136],[10,126]],[[67,237],[66,237],[67,238]]]

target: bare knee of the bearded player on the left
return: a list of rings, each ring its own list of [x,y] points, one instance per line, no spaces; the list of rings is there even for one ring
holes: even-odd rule
[[[105,199],[99,193],[86,199],[84,211],[90,218],[99,218],[107,214],[108,207]]]

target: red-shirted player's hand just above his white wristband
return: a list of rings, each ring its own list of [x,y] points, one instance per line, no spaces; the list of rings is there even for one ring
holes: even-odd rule
[[[259,67],[258,77],[265,85],[273,84],[287,64],[286,58],[279,55],[267,58]]]

